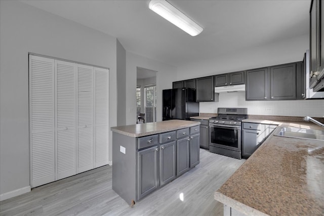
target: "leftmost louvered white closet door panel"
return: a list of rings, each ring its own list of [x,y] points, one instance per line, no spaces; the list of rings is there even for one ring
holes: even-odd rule
[[[32,188],[55,181],[54,115],[54,60],[29,55],[29,158]]]

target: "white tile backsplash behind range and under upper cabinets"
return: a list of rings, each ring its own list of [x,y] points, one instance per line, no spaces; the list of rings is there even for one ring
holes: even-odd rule
[[[250,115],[324,117],[324,100],[246,101],[245,92],[220,93],[219,102],[200,102],[200,113],[217,113],[218,107],[248,108]]]

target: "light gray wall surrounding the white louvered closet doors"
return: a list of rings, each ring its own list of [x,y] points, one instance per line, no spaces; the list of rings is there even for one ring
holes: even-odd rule
[[[3,195],[29,187],[28,52],[109,67],[109,123],[115,126],[116,38],[18,1],[0,4]]]

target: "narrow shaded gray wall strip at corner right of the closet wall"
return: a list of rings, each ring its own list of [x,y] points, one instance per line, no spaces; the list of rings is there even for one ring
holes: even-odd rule
[[[126,124],[126,50],[117,39],[117,126]]]

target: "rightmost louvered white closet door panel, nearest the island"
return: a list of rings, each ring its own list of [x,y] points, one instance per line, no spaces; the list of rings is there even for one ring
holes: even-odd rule
[[[108,164],[109,70],[95,67],[95,167]]]

